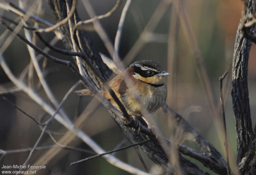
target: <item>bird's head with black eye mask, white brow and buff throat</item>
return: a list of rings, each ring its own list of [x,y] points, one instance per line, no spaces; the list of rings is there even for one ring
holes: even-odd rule
[[[129,68],[133,68],[132,76],[135,79],[154,85],[163,84],[164,76],[171,75],[170,72],[164,71],[158,63],[151,60],[136,61]]]

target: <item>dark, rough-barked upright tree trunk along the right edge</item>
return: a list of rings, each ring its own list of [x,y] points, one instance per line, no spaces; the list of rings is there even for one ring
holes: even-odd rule
[[[247,0],[244,3],[240,24],[243,15],[255,14],[255,2],[255,0]],[[253,34],[253,30],[255,26],[248,28],[246,32]],[[237,165],[241,174],[256,174],[256,138],[255,129],[252,130],[247,81],[250,49],[251,41],[238,29],[232,62],[231,95],[236,122]]]

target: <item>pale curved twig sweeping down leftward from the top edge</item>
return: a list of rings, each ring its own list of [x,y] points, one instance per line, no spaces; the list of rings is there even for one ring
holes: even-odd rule
[[[68,22],[68,19],[72,17],[75,10],[76,10],[76,0],[73,0],[72,1],[72,7],[71,7],[71,9],[70,9],[70,11],[69,11],[69,13],[68,13],[68,15],[65,19],[61,20],[60,22],[58,22],[54,26],[51,26],[51,27],[48,27],[48,28],[37,29],[37,30],[34,30],[34,32],[42,33],[42,32],[51,32],[51,31],[53,31],[54,29],[60,27],[61,25],[65,24],[66,22]]]

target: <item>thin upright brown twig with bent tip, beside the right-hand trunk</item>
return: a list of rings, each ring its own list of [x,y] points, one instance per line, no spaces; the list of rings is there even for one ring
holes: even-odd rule
[[[222,95],[222,81],[228,74],[228,70],[219,78],[220,81],[220,105],[221,105],[221,113],[223,118],[223,126],[224,126],[224,138],[225,138],[225,152],[226,152],[226,159],[227,159],[227,171],[228,175],[231,173],[231,169],[229,166],[229,157],[228,157],[228,138],[227,138],[227,127],[226,127],[226,119],[225,119],[225,110],[224,110],[224,104],[223,104],[223,95]]]

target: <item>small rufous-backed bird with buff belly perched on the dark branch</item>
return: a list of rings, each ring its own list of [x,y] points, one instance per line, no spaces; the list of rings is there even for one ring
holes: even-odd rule
[[[146,109],[152,114],[164,105],[167,96],[167,87],[164,84],[166,75],[171,75],[171,73],[164,71],[157,62],[140,60],[116,75],[108,82],[108,85],[113,89],[129,115],[143,116],[143,110]],[[125,81],[126,76],[132,80],[130,86],[127,86],[129,81]],[[108,91],[100,90],[99,92],[119,109]],[[134,92],[137,92],[139,99],[136,99]],[[88,89],[78,90],[75,93],[77,95],[93,95]]]

